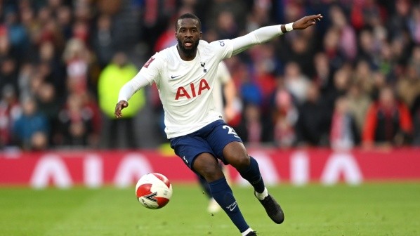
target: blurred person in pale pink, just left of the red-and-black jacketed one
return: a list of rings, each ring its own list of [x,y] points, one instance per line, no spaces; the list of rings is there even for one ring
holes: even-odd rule
[[[341,96],[336,99],[332,124],[329,133],[329,143],[335,150],[348,150],[360,142],[355,119],[348,107],[348,98]]]

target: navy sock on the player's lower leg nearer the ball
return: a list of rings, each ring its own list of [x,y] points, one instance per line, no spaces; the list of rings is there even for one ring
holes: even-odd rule
[[[233,197],[232,189],[230,189],[228,182],[223,177],[217,181],[209,183],[211,196],[216,202],[222,207],[222,209],[228,214],[230,220],[236,225],[239,232],[244,232],[249,228],[247,222],[245,222],[244,216],[242,216],[239,206],[237,205],[235,197]]]

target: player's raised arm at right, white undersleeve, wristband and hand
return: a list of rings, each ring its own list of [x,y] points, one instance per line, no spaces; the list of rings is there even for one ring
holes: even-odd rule
[[[296,20],[293,23],[289,23],[286,25],[271,25],[256,29],[247,35],[232,39],[232,55],[241,53],[242,51],[247,50],[253,45],[263,44],[266,41],[270,41],[271,39],[279,37],[280,35],[285,34],[293,29],[306,29],[311,25],[315,25],[316,22],[321,19],[321,14],[307,15],[299,20]]]

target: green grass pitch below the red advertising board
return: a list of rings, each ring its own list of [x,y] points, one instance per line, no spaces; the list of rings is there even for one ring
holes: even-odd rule
[[[282,225],[270,221],[251,188],[233,190],[261,236],[420,235],[419,183],[270,187],[284,209]],[[206,206],[197,185],[176,183],[159,210],[141,206],[134,188],[0,188],[0,235],[240,235],[224,213],[211,216]]]

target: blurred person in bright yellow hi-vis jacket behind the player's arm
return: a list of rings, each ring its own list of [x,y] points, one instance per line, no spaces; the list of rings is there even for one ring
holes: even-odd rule
[[[137,74],[137,68],[131,64],[125,53],[114,55],[112,63],[107,65],[100,73],[98,81],[98,101],[100,110],[104,113],[105,127],[103,129],[104,147],[138,147],[134,117],[145,105],[143,90],[137,91],[131,98],[130,106],[126,108],[124,117],[116,119],[114,116],[115,100],[118,98],[118,89]],[[124,131],[122,137],[119,131]],[[119,144],[119,140],[123,140]]]

